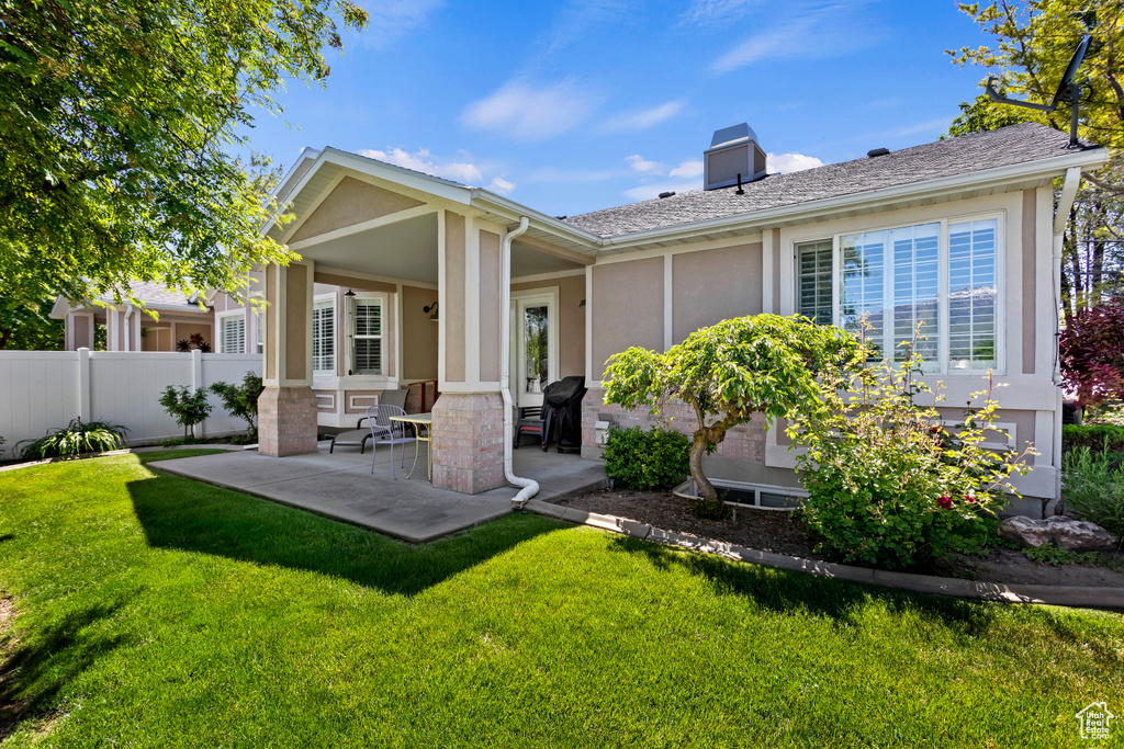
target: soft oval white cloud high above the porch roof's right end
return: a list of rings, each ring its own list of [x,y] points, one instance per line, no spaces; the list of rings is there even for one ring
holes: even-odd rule
[[[461,120],[517,140],[546,140],[581,125],[597,98],[571,82],[533,88],[509,81],[468,106]]]

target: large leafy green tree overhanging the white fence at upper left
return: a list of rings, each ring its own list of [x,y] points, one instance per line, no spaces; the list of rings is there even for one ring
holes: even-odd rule
[[[275,207],[232,153],[365,24],[351,0],[0,0],[6,299],[238,293],[252,265],[291,259],[259,232]]]

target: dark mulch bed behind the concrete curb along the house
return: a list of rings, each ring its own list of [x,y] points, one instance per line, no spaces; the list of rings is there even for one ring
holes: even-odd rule
[[[786,554],[805,559],[842,561],[813,549],[816,540],[812,531],[791,512],[747,510],[738,508],[737,521],[706,520],[696,517],[686,500],[670,492],[638,492],[633,490],[602,490],[590,492],[558,504],[615,515],[652,528],[695,536],[714,541],[736,544],[761,551]],[[852,563],[854,564],[854,563]],[[1113,568],[1086,565],[1053,566],[1027,559],[1022,551],[992,549],[980,557],[953,555],[932,568],[910,569],[925,575],[962,577],[989,583],[1025,585],[1067,585],[1124,587],[1124,557],[1116,555]]]

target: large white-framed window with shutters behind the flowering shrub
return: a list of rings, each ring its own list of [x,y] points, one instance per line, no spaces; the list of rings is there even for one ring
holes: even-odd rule
[[[900,360],[921,325],[926,372],[997,369],[1000,229],[984,217],[798,243],[797,310],[851,332],[865,316],[880,358]]]

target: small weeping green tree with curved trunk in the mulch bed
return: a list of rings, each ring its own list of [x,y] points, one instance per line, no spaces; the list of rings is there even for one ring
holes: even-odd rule
[[[726,432],[755,413],[770,426],[797,410],[815,414],[823,409],[821,375],[861,365],[859,341],[840,328],[758,314],[697,330],[665,353],[632,347],[616,354],[606,369],[605,401],[653,412],[671,400],[689,403],[698,423],[691,478],[699,496],[714,502],[718,494],[703,473],[703,456]]]

